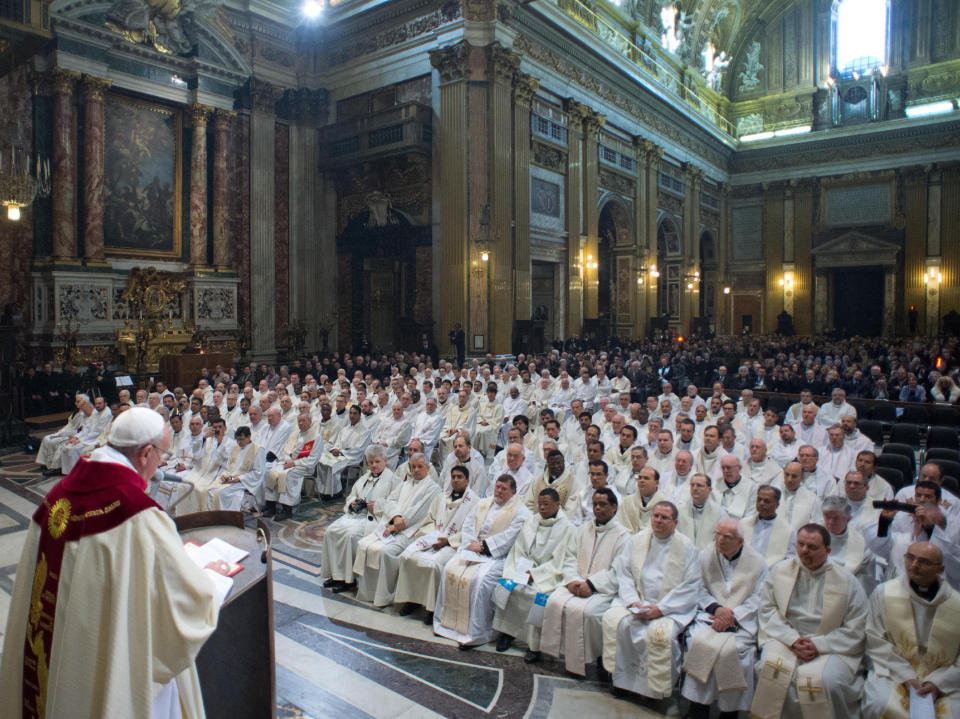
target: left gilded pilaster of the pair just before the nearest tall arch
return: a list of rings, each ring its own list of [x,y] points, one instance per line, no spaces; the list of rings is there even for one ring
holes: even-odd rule
[[[564,205],[567,209],[567,301],[566,325],[561,328],[561,336],[583,335],[583,263],[581,258],[581,237],[583,218],[580,213],[583,190],[583,121],[590,108],[575,100],[564,102],[567,113],[567,196]]]

